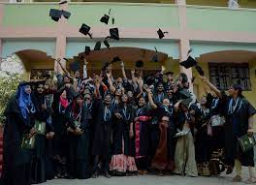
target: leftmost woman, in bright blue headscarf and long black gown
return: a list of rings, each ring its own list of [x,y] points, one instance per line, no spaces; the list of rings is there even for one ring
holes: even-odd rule
[[[36,109],[30,94],[30,83],[20,83],[16,96],[11,98],[5,110],[3,184],[31,184],[32,153],[26,147],[21,147],[22,139],[32,139],[35,134],[33,115]]]

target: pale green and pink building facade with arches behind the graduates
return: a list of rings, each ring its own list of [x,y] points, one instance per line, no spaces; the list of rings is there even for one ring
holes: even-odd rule
[[[226,1],[148,2],[152,3],[2,2],[0,56],[16,53],[27,78],[40,70],[58,71],[53,58],[68,58],[69,62],[64,63],[68,68],[70,62],[79,59],[84,46],[93,48],[95,42],[109,35],[110,28],[118,27],[120,41],[110,41],[111,49],[102,46],[88,56],[91,73],[98,72],[103,62],[115,55],[121,56],[128,70],[135,68],[136,60],[143,59],[148,73],[165,66],[167,71],[186,73],[189,79],[196,77],[193,89],[202,97],[205,89],[197,72],[179,66],[192,48],[191,55],[199,61],[206,77],[222,89],[240,79],[246,98],[256,106],[256,10],[251,9],[254,2],[243,0],[241,3],[251,8],[240,9],[224,7]],[[211,6],[215,5],[213,2],[222,3],[223,7]],[[72,15],[55,22],[48,16],[52,8]],[[103,24],[99,19],[110,9],[115,22]],[[81,23],[91,26],[93,39],[80,34]],[[158,28],[168,32],[161,40],[156,33]],[[158,63],[150,61],[154,46],[161,58]]]

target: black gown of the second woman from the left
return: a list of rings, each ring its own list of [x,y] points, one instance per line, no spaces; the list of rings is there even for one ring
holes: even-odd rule
[[[46,132],[49,130],[50,125],[48,118],[51,113],[51,108],[43,109],[42,105],[48,104],[48,100],[44,94],[33,94],[32,96],[36,113],[35,119],[40,122],[46,123]],[[47,157],[47,138],[46,135],[36,135],[35,149],[33,151],[32,166],[31,166],[31,179],[33,183],[43,183],[47,181],[46,175],[46,157]]]

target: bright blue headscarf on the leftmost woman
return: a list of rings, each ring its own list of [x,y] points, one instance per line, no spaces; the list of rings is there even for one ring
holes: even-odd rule
[[[21,111],[21,115],[24,119],[28,119],[29,111],[35,112],[35,107],[31,101],[30,94],[25,92],[25,88],[28,83],[20,83],[16,92],[16,99],[18,101],[18,108]]]

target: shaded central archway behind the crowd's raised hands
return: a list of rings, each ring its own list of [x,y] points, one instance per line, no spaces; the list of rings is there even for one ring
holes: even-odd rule
[[[165,62],[168,58],[168,55],[163,52],[157,52],[158,62],[153,62],[152,57],[156,54],[154,50],[138,48],[138,47],[111,47],[103,48],[98,51],[91,51],[89,55],[85,55],[85,53],[80,53],[79,56],[74,57],[75,60],[79,60],[82,65],[82,60],[80,57],[85,57],[88,62],[88,74],[91,76],[92,74],[100,74],[102,67],[106,62],[111,62],[112,58],[118,56],[122,59],[125,65],[125,70],[127,77],[130,77],[130,71],[132,69],[136,70],[144,70],[144,76],[148,74],[153,74],[156,71],[161,70],[161,67],[165,65]],[[136,68],[136,61],[143,60],[144,67],[139,69]],[[69,61],[68,63],[71,63]],[[69,65],[67,65],[67,68]],[[120,64],[116,63],[113,65],[112,69],[113,77],[121,77],[121,69]]]

